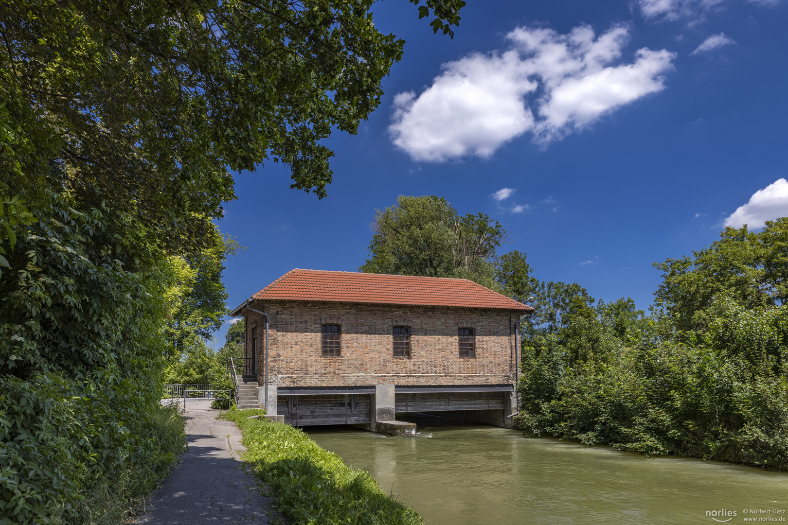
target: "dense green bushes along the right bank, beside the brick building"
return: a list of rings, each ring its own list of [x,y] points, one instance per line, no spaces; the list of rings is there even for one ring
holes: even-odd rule
[[[701,341],[572,360],[556,339],[524,349],[526,435],[788,471],[788,307],[720,300]]]

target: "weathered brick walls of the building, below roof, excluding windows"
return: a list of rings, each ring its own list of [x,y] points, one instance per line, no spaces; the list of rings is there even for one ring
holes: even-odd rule
[[[515,377],[519,312],[255,301],[269,315],[269,382],[278,386],[492,385]],[[244,309],[247,333],[258,327],[258,381],[264,372],[265,318]],[[341,356],[322,357],[321,325],[340,324]],[[411,327],[411,357],[393,357],[392,327]],[[476,329],[476,356],[459,357],[458,327]],[[247,338],[247,355],[251,340]]]

